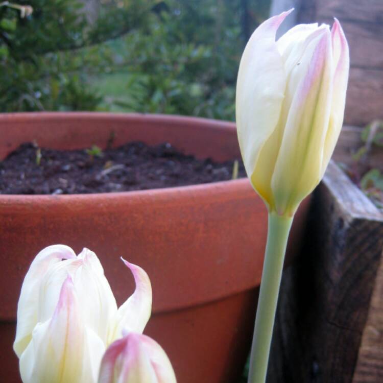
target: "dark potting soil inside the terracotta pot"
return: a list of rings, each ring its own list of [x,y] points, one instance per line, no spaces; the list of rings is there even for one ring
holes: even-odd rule
[[[79,194],[193,185],[232,179],[233,161],[184,155],[170,143],[58,151],[24,143],[0,162],[0,194]],[[239,161],[238,177],[245,177]]]

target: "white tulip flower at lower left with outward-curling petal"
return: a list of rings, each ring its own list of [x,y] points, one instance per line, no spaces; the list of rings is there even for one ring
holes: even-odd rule
[[[141,333],[152,288],[138,266],[123,260],[136,289],[117,308],[98,257],[64,245],[43,249],[23,281],[14,350],[24,383],[95,383],[106,348],[123,331]]]

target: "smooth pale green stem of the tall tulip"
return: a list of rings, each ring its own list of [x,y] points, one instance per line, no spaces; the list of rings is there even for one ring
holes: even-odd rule
[[[294,217],[269,212],[264,269],[255,317],[248,383],[265,383],[284,254]]]

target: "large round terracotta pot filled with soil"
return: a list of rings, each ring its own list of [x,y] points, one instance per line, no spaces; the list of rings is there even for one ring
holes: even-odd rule
[[[56,149],[130,140],[171,142],[185,153],[238,157],[233,123],[106,113],[0,115],[0,158],[35,140]],[[289,243],[297,251],[308,201]],[[267,234],[267,211],[247,179],[139,192],[0,195],[0,381],[18,382],[12,351],[16,305],[30,262],[63,243],[101,259],[117,303],[133,289],[119,256],[144,268],[153,285],[146,333],[170,356],[180,383],[238,381],[248,355]]]

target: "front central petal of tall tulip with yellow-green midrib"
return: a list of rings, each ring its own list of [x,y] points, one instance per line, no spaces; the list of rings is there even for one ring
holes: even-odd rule
[[[293,94],[272,176],[278,214],[295,213],[320,180],[332,94],[331,35],[328,27],[310,42],[289,77]]]

